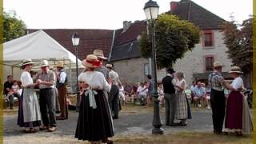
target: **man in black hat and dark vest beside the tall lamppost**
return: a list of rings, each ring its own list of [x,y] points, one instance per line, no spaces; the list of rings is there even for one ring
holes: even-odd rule
[[[166,107],[166,126],[178,126],[174,123],[174,115],[176,110],[176,97],[175,97],[175,79],[173,74],[175,73],[174,69],[168,68],[166,70],[166,77],[162,78],[162,86],[165,98],[165,107]]]

